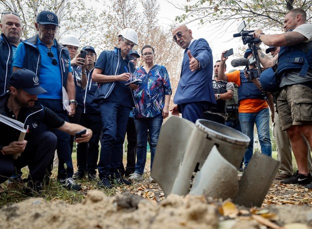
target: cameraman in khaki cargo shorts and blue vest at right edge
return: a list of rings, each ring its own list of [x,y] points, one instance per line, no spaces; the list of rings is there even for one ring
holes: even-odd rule
[[[298,171],[284,184],[303,184],[312,189],[312,176],[308,169],[308,146],[312,145],[312,24],[306,23],[307,13],[294,8],[285,14],[287,32],[267,35],[262,30],[254,36],[269,46],[281,46],[277,76],[281,77],[277,97],[281,126],[291,140]]]

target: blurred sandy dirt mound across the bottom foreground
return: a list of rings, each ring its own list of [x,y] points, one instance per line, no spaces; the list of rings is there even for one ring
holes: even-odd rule
[[[82,203],[75,205],[30,198],[4,206],[0,209],[0,228],[259,229],[260,225],[272,223],[272,219],[276,228],[292,223],[309,228],[312,223],[308,206],[272,206],[258,213],[229,201],[213,202],[204,197],[170,195],[157,203],[136,195],[107,197],[92,190]],[[266,219],[268,216],[271,221]]]

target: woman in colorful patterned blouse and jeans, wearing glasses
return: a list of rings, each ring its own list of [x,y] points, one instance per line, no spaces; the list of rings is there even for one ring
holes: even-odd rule
[[[158,136],[163,119],[169,114],[169,102],[172,94],[167,69],[154,64],[155,51],[150,45],[142,50],[144,66],[134,72],[135,79],[141,79],[142,84],[134,90],[134,122],[137,131],[137,161],[135,172],[129,180],[143,180],[147,154],[147,131],[151,149],[151,169],[155,155]],[[152,179],[150,178],[152,181]]]

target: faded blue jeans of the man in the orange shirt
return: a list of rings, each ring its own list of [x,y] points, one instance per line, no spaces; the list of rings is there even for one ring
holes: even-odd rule
[[[256,123],[261,152],[272,157],[272,145],[270,138],[270,113],[269,108],[256,113],[240,113],[239,119],[242,132],[250,137],[250,143],[244,155],[245,167],[247,167],[254,152],[254,124]]]

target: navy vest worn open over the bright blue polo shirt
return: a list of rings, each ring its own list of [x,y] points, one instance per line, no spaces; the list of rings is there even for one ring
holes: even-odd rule
[[[38,34],[35,36],[22,41],[25,44],[26,53],[24,56],[23,68],[33,71],[39,78],[41,59],[39,49],[37,47]],[[57,57],[60,63],[61,76],[62,76],[62,86],[66,89],[67,77],[69,72],[69,65],[66,61],[70,61],[69,52],[67,48],[60,45],[55,39],[55,44],[57,48]]]

